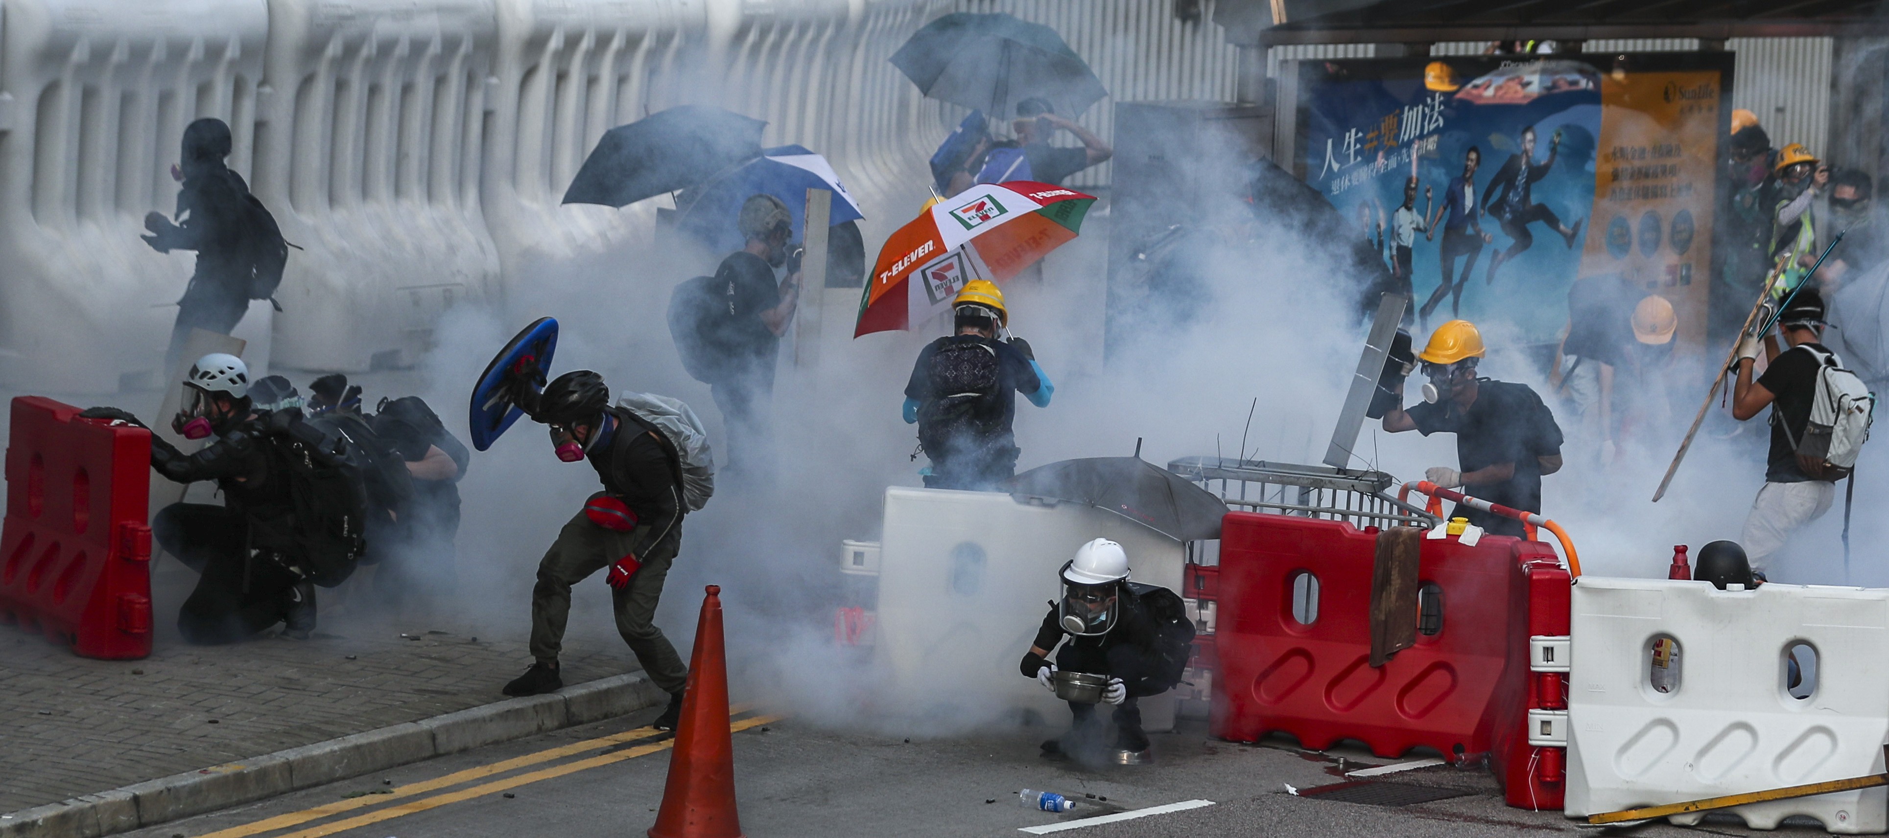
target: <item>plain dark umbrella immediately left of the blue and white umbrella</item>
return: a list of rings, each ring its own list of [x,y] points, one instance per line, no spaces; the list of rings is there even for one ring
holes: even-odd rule
[[[565,204],[625,206],[706,181],[761,157],[765,126],[706,106],[676,106],[618,125],[570,179]]]

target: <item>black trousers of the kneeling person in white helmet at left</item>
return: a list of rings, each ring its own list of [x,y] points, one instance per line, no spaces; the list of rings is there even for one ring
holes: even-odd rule
[[[234,644],[287,615],[300,578],[266,555],[249,557],[249,525],[242,513],[210,504],[170,504],[151,519],[151,536],[200,574],[178,612],[185,642]]]

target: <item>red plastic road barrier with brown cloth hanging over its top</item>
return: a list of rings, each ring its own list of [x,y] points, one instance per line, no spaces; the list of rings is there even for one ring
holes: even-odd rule
[[[1517,755],[1511,736],[1523,734],[1526,751],[1528,568],[1557,562],[1558,570],[1553,549],[1507,536],[1483,536],[1473,547],[1455,536],[1424,540],[1419,579],[1441,591],[1441,627],[1434,634],[1421,628],[1417,645],[1381,668],[1370,664],[1375,553],[1375,527],[1226,515],[1211,732],[1252,742],[1281,730],[1313,749],[1358,740],[1379,757],[1426,746],[1458,763],[1492,755],[1509,766]],[[1298,583],[1302,574],[1317,579],[1317,596],[1309,596],[1309,583]],[[1566,572],[1560,585],[1558,619],[1566,627]]]

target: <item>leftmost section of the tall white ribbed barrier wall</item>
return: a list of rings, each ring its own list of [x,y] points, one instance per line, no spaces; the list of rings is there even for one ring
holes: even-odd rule
[[[249,176],[263,0],[8,0],[0,45],[0,383],[151,385],[195,255],[161,255],[183,126],[221,117]]]

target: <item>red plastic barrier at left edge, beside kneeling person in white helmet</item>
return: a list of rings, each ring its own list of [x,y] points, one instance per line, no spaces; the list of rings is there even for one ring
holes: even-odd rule
[[[0,621],[100,659],[151,653],[151,432],[13,398]]]

